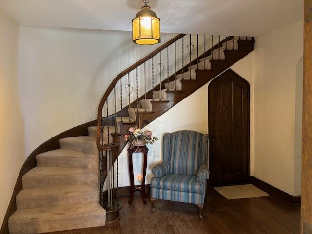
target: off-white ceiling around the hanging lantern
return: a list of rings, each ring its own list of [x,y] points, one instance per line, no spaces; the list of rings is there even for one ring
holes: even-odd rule
[[[130,31],[141,0],[0,0],[22,25]],[[166,33],[257,36],[303,19],[303,0],[150,0]]]

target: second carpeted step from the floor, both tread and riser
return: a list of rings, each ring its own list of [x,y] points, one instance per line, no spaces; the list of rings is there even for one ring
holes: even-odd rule
[[[23,189],[16,196],[18,210],[96,201],[98,201],[98,184]]]

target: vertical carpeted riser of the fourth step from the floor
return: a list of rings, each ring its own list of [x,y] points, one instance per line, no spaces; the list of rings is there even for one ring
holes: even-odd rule
[[[40,167],[74,167],[98,169],[98,158],[75,158],[75,157],[49,157],[37,158],[37,166]]]

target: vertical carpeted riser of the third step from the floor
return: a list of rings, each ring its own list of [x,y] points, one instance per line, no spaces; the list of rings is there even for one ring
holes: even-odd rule
[[[71,176],[60,175],[41,178],[33,178],[33,177],[28,178],[23,176],[22,182],[23,189],[71,185],[71,184],[98,183],[98,174],[96,171],[94,172],[90,171],[88,174],[79,174]]]

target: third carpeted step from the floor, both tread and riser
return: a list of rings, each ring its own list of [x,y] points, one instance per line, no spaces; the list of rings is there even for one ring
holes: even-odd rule
[[[98,183],[98,172],[88,168],[35,167],[23,177],[23,188]]]

